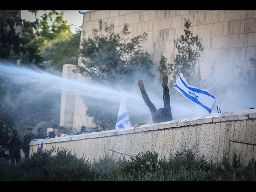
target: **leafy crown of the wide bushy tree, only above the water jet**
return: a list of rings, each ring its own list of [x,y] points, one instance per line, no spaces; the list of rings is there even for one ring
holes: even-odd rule
[[[131,83],[138,74],[152,75],[152,61],[149,54],[141,50],[140,42],[146,39],[146,33],[129,40],[128,24],[121,33],[114,33],[114,25],[108,26],[99,20],[99,28],[92,36],[83,39],[80,56],[82,65],[78,72],[92,80],[114,83],[122,79]]]

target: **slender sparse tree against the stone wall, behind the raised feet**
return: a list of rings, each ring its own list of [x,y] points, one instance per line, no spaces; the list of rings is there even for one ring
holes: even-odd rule
[[[166,68],[163,64],[158,66],[158,72],[167,73],[172,75],[172,80],[170,84],[174,85],[175,80],[178,78],[180,73],[186,78],[186,80],[191,84],[200,84],[200,67],[198,66],[196,71],[196,64],[201,56],[201,52],[204,50],[198,36],[193,36],[189,30],[191,25],[190,20],[184,19],[184,32],[185,36],[181,35],[174,41],[174,46],[178,50],[174,58],[174,63],[167,64]],[[162,56],[164,57],[164,56]],[[162,58],[162,62],[166,63],[166,60]]]

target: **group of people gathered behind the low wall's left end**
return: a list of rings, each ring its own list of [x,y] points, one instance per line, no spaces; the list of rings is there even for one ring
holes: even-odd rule
[[[7,141],[8,149],[9,149],[9,155],[10,155],[10,163],[15,164],[15,162],[21,161],[21,154],[20,149],[23,150],[25,158],[28,158],[29,156],[29,147],[30,142],[32,140],[39,140],[39,139],[46,139],[46,138],[60,138],[64,136],[68,136],[67,134],[67,128],[64,126],[56,126],[53,125],[53,131],[48,132],[47,134],[44,134],[43,128],[38,128],[38,134],[33,134],[33,128],[28,127],[27,134],[24,136],[23,140],[18,135],[17,130],[13,130],[12,135]],[[81,131],[79,133],[74,134],[87,134],[89,132],[100,132],[108,130],[106,125],[101,124],[98,126],[98,128],[86,128],[85,126],[81,127]]]

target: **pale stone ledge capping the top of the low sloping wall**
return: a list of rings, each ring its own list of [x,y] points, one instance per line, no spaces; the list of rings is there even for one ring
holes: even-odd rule
[[[122,134],[133,134],[138,132],[148,132],[152,130],[162,130],[169,128],[180,128],[184,126],[193,126],[199,124],[209,124],[216,122],[227,122],[234,120],[248,120],[256,118],[256,109],[248,109],[248,110],[239,110],[234,112],[223,112],[223,113],[213,113],[202,116],[195,116],[191,118],[184,118],[178,120],[172,120],[168,122],[154,123],[154,124],[146,124],[139,126],[134,131],[133,127],[122,128],[118,130],[107,130],[102,132],[92,132],[88,134],[80,134],[73,136],[66,136],[62,138],[51,138],[44,141],[46,143],[56,143],[56,142],[66,142],[66,141],[74,141],[74,140],[83,140],[83,139],[91,139],[91,138],[100,138],[100,137],[108,137]],[[30,142],[30,146],[41,144],[41,140]]]

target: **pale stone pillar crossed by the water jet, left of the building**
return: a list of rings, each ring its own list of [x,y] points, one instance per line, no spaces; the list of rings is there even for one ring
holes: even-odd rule
[[[64,64],[62,69],[62,77],[66,79],[76,79],[76,73],[73,72],[75,68],[75,65]],[[66,93],[66,90],[62,90],[60,126],[73,127],[75,98],[76,96],[74,94],[68,94]]]

